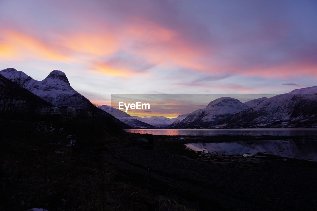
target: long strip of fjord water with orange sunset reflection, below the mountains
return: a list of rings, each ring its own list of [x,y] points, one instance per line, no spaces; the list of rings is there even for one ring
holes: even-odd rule
[[[173,136],[308,136],[317,135],[317,128],[260,128],[260,129],[131,129],[127,132]]]

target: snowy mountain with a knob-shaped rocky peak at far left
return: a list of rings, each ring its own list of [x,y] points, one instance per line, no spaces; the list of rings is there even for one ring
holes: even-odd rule
[[[92,105],[87,98],[70,86],[66,75],[59,70],[53,70],[42,81],[34,80],[14,68],[4,69],[0,71],[0,74],[12,81],[21,83],[23,87],[54,106],[90,110]]]

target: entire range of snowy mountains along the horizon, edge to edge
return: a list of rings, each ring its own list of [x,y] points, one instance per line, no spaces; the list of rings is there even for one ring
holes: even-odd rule
[[[245,103],[238,99],[221,97],[211,101],[204,109],[182,114],[177,118],[135,117],[108,105],[96,108],[87,98],[75,91],[66,75],[58,70],[52,71],[42,81],[34,80],[13,68],[4,69],[0,74],[23,85],[54,106],[98,109],[108,118],[121,121],[124,128],[317,127],[317,86],[296,89],[269,99],[266,97],[253,99]]]

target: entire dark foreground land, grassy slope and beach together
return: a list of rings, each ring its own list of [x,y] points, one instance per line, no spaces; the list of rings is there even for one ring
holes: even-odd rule
[[[317,208],[316,162],[220,156],[184,147],[193,142],[311,137],[177,139],[39,121],[16,121],[1,130],[0,210]],[[138,144],[142,137],[153,143]]]

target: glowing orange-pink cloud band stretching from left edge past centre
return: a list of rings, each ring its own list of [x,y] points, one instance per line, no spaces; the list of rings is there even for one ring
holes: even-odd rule
[[[96,23],[102,25],[101,22]],[[158,23],[132,18],[129,24],[122,25],[111,31],[93,29],[89,32],[72,33],[41,33],[39,39],[23,31],[15,29],[2,30],[0,49],[4,59],[38,59],[66,63],[90,63],[104,56],[113,55],[118,51],[136,55],[150,63],[164,64],[198,70],[205,69],[198,62],[203,55],[202,49],[182,39],[175,30]],[[53,38],[52,38],[53,37]],[[124,62],[124,61],[122,61]],[[94,64],[95,70],[114,76],[131,76],[138,70],[122,63],[119,67],[105,64]]]

